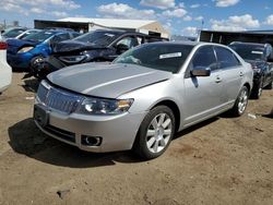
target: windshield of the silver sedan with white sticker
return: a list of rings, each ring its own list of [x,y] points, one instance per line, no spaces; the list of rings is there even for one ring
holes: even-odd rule
[[[114,63],[140,64],[155,70],[177,73],[193,46],[175,44],[146,44],[118,57]]]

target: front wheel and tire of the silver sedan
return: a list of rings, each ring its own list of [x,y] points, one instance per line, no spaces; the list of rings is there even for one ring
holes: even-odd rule
[[[140,125],[133,152],[145,160],[159,157],[173,140],[175,124],[175,116],[168,107],[153,108]]]

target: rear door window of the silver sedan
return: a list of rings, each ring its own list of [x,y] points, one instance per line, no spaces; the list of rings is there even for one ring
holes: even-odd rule
[[[214,47],[214,49],[221,69],[238,67],[240,64],[239,60],[230,50],[222,47]]]

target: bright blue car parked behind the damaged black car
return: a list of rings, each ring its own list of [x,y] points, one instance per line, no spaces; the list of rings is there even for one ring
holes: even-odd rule
[[[41,31],[23,39],[9,39],[7,60],[13,69],[32,71],[35,64],[50,56],[52,46],[62,40],[72,39],[80,33],[70,31]]]

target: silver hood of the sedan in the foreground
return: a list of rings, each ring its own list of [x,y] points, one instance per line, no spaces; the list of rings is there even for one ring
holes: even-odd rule
[[[59,70],[47,76],[55,85],[90,96],[118,96],[157,82],[173,73],[136,64],[85,63]]]

